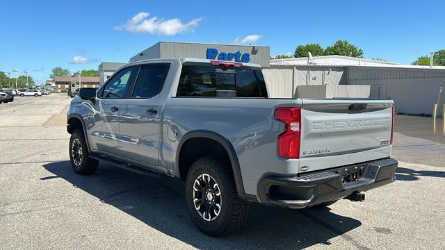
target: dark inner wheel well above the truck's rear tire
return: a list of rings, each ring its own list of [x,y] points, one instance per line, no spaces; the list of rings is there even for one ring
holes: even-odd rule
[[[233,174],[232,163],[225,147],[220,142],[209,138],[191,138],[182,145],[179,152],[179,176],[185,180],[188,169],[199,158],[213,156],[230,168]]]

